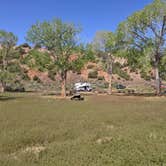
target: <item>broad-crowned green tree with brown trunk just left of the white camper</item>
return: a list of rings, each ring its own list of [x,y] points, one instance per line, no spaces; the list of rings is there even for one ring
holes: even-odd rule
[[[59,19],[37,22],[27,33],[27,41],[47,48],[53,57],[53,65],[61,77],[61,95],[66,96],[66,79],[69,70],[83,65],[82,55],[75,60],[71,55],[78,51],[78,34],[80,28],[73,24],[63,23]]]

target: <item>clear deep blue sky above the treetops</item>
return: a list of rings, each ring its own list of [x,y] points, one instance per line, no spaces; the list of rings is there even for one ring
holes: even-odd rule
[[[11,31],[25,42],[26,32],[37,20],[61,18],[81,25],[81,40],[90,42],[100,30],[117,25],[152,0],[0,0],[0,29]]]

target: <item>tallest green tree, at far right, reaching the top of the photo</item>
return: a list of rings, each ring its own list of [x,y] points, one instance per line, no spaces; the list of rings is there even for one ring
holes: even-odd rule
[[[166,46],[166,2],[154,0],[143,10],[128,17],[118,28],[119,41],[125,50],[135,50],[146,56],[155,70],[156,93],[160,89],[160,62]]]

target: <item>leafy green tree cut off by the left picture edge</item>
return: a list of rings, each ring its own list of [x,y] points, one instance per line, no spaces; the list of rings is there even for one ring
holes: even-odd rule
[[[16,54],[14,46],[17,43],[17,37],[12,32],[0,30],[0,84],[4,88],[6,83],[12,78],[11,63],[15,64],[13,60]]]

